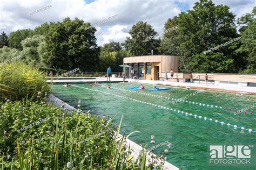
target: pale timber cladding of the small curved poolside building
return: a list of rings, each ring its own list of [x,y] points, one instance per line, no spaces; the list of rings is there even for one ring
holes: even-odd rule
[[[178,72],[179,58],[173,55],[144,55],[144,56],[132,56],[124,58],[124,64],[139,68],[139,65],[143,65],[143,79],[144,80],[159,80],[162,73]],[[147,74],[147,67],[151,65],[151,73]],[[130,70],[129,70],[130,72]],[[139,73],[139,71],[138,71]],[[128,73],[127,76],[129,76]],[[138,74],[139,75],[139,74]]]

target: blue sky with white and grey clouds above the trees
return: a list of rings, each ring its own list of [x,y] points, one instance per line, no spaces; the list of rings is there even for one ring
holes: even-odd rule
[[[0,0],[0,32],[35,29],[46,22],[61,22],[65,17],[95,24],[117,15],[96,26],[100,46],[110,41],[124,42],[130,37],[132,25],[139,21],[147,22],[161,33],[167,19],[192,9],[195,2],[197,0]],[[251,13],[256,0],[213,0],[213,3],[230,6],[235,18],[239,18]],[[30,17],[31,12],[48,5],[50,9]]]

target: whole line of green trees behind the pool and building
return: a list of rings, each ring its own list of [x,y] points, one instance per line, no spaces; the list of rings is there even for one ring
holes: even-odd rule
[[[256,7],[235,20],[227,5],[211,0],[196,2],[192,10],[169,18],[162,37],[146,22],[134,24],[124,42],[96,42],[95,27],[69,17],[0,35],[0,62],[21,55],[21,60],[44,70],[122,71],[123,58],[154,54],[179,56],[179,72],[256,73]],[[91,29],[87,29],[91,27]],[[175,30],[170,30],[176,27]],[[149,37],[153,37],[150,38]],[[239,41],[209,49],[241,37]],[[208,51],[206,53],[206,51]]]

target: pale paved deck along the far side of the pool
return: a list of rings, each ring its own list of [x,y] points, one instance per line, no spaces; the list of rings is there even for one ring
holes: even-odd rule
[[[53,80],[53,82],[59,82],[59,83],[65,83],[65,82],[123,82],[123,78],[114,78],[111,77],[111,81],[106,81],[106,77],[96,77],[95,80],[87,79],[87,80],[77,80],[77,79],[63,79],[63,80]],[[125,79],[127,81],[135,81],[137,79]],[[48,80],[47,82],[51,82],[51,80]],[[256,87],[234,87],[234,86],[214,86],[213,84],[209,84],[209,86],[206,86],[205,84],[197,84],[197,83],[181,83],[181,82],[170,82],[170,81],[157,81],[157,80],[139,80],[139,83],[147,83],[147,84],[157,84],[162,86],[171,86],[171,87],[180,87],[180,88],[186,88],[190,87],[191,89],[204,89],[204,90],[210,90],[210,91],[220,91],[225,93],[239,93],[239,94],[247,94],[247,95],[256,95]]]

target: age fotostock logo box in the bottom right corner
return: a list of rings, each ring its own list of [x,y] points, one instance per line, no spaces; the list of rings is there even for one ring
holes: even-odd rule
[[[208,164],[211,165],[255,165],[254,145],[210,145],[208,153]]]

